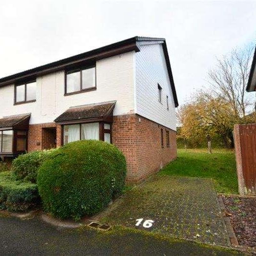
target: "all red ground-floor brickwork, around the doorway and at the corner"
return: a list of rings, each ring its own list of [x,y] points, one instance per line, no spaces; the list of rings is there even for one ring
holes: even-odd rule
[[[51,129],[56,129],[56,146],[61,146],[61,125],[54,122],[32,124],[29,125],[28,151],[50,148],[53,144]],[[169,147],[166,131],[169,131]],[[112,143],[126,158],[128,183],[141,182],[177,157],[176,132],[135,114],[114,116]]]

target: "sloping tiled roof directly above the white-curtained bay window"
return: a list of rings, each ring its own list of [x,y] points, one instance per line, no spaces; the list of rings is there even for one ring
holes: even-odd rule
[[[116,101],[108,101],[71,107],[57,117],[54,122],[59,124],[99,121],[112,122],[115,104]]]

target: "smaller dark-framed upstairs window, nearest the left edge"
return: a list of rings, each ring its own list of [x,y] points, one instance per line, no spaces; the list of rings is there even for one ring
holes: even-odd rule
[[[28,103],[36,101],[37,82],[15,85],[14,103]]]

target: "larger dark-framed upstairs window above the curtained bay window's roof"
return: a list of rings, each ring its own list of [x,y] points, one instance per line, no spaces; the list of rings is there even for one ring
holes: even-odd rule
[[[96,68],[87,67],[66,72],[65,94],[84,92],[96,88]]]

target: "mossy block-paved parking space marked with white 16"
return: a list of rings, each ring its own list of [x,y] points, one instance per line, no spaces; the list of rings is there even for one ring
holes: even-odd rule
[[[143,221],[151,219],[151,228]],[[209,179],[154,176],[102,214],[100,221],[160,232],[209,244],[230,246],[213,182]]]

